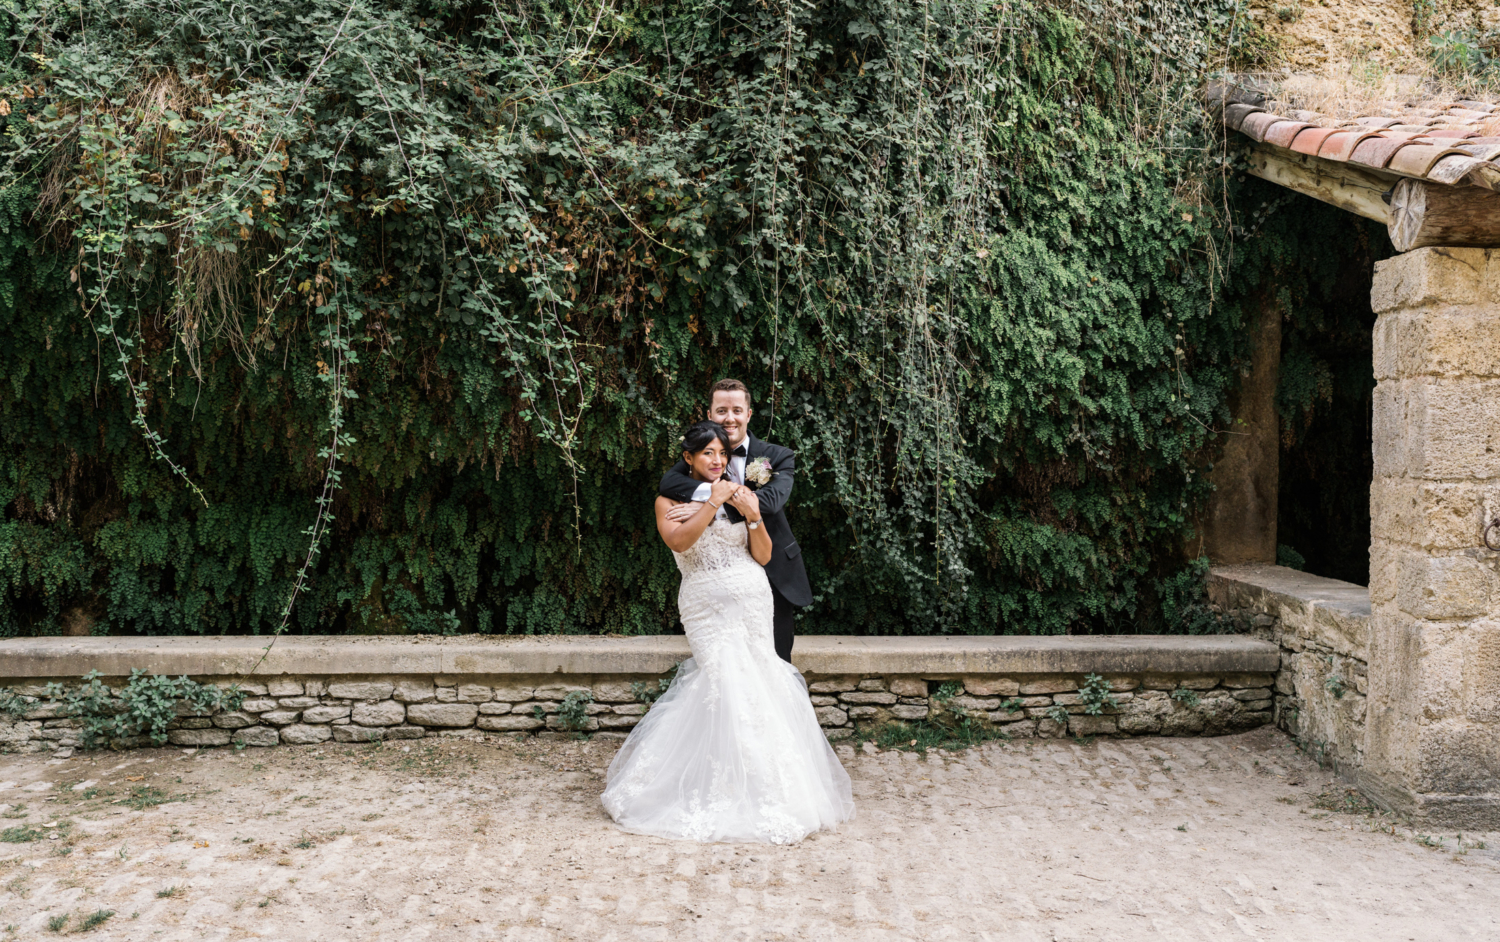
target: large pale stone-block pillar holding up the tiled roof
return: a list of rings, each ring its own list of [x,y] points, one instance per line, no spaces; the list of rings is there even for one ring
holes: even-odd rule
[[[1370,698],[1360,784],[1500,828],[1500,249],[1376,264]]]

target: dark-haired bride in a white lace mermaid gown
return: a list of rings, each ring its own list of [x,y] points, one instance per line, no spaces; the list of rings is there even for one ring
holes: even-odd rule
[[[603,794],[638,834],[788,844],[854,818],[849,776],[807,699],[802,675],[776,654],[771,537],[754,492],[724,474],[729,436],[699,422],[682,436],[710,500],[681,524],[658,496],[657,531],[682,572],[678,609],[693,657],[621,746]],[[744,520],[734,524],[724,504]]]

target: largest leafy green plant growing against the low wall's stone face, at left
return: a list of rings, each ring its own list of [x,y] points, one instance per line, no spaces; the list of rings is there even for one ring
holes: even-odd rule
[[[63,704],[63,716],[81,720],[84,748],[141,735],[148,736],[156,746],[164,746],[166,726],[178,716],[234,711],[244,702],[244,692],[238,684],[220,690],[188,676],[172,680],[141,669],[130,670],[130,680],[118,694],[99,682],[98,670],[86,674],[82,681],[78,687],[48,684],[46,694]]]

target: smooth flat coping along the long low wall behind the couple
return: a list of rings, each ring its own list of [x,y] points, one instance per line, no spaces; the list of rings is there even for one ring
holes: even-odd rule
[[[1290,572],[1290,570],[1288,570]],[[132,669],[189,676],[657,675],[688,656],[681,634],[288,636],[256,668],[266,638],[10,638],[0,678],[72,678]],[[808,634],[792,660],[804,674],[946,676],[981,674],[1269,674],[1275,644],[1240,634],[858,638]],[[254,669],[254,674],[252,674]]]

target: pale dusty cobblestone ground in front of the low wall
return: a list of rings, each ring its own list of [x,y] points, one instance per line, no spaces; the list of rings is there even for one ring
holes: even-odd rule
[[[1500,834],[1360,813],[1272,730],[843,746],[856,820],[790,848],[614,830],[615,747],[0,756],[0,939],[1500,939]]]

